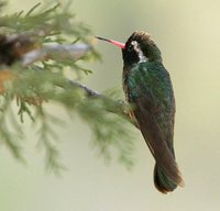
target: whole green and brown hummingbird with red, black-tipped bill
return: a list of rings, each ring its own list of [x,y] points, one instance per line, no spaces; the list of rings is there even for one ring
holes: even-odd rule
[[[152,36],[135,31],[120,43],[97,36],[122,49],[123,90],[131,103],[130,116],[136,122],[154,159],[154,185],[162,193],[184,186],[174,152],[175,97],[162,54]]]

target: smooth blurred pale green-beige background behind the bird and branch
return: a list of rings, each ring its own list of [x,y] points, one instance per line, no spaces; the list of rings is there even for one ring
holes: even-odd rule
[[[9,11],[29,10],[38,1],[10,0]],[[164,196],[153,185],[154,160],[140,132],[135,165],[127,170],[107,165],[90,146],[90,131],[79,119],[66,119],[59,130],[61,177],[46,174],[43,153],[28,127],[24,155],[18,163],[0,148],[0,210],[2,211],[216,211],[220,208],[220,2],[216,0],[73,1],[77,19],[100,36],[125,42],[135,30],[150,32],[169,70],[177,103],[175,149],[186,186]],[[84,82],[99,91],[121,86],[121,52],[98,42],[102,63]]]

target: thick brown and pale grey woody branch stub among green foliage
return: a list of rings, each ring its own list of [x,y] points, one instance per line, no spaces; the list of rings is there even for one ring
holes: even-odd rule
[[[40,44],[37,33],[0,34],[0,65],[10,66],[20,62],[25,67],[46,59],[77,60],[91,49],[91,45],[86,43],[59,44],[54,42]]]

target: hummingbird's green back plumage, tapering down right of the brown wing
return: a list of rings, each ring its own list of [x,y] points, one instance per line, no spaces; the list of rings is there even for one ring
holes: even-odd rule
[[[134,65],[128,74],[127,82],[129,102],[135,102],[140,97],[147,98],[155,109],[154,116],[164,135],[168,135],[173,142],[173,134],[167,133],[174,127],[175,99],[169,75],[163,64],[144,62]]]

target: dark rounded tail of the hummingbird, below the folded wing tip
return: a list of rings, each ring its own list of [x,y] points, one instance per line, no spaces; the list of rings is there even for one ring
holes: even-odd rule
[[[177,187],[177,184],[168,178],[157,164],[154,167],[154,185],[162,193],[170,192]]]

